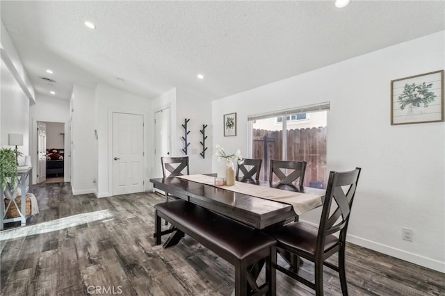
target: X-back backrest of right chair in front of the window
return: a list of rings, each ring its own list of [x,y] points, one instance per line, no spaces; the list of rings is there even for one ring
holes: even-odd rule
[[[282,171],[286,170],[286,174]],[[269,183],[273,183],[273,176],[278,177],[280,181],[275,183],[275,186],[283,185],[293,185],[296,179],[300,178],[298,186],[302,187],[305,181],[306,172],[306,162],[305,161],[274,161],[270,160],[270,172],[269,172]]]

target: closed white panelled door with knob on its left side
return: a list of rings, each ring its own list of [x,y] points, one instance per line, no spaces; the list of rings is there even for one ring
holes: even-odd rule
[[[113,195],[144,190],[143,116],[113,113]]]

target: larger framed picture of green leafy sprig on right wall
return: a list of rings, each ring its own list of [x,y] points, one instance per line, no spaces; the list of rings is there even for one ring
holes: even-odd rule
[[[444,70],[391,81],[391,125],[444,121]]]

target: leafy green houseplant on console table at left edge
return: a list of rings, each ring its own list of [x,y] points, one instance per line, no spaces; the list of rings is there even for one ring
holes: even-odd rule
[[[11,188],[17,186],[17,155],[22,153],[11,148],[0,148],[0,186],[3,190],[8,183]]]

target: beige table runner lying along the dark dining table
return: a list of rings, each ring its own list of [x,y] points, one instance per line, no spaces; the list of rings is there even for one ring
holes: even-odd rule
[[[295,211],[297,215],[301,215],[302,213],[310,211],[313,208],[316,208],[323,204],[321,201],[321,196],[319,195],[309,195],[302,192],[293,192],[266,186],[258,186],[238,181],[235,181],[234,186],[216,186],[214,183],[215,178],[213,176],[206,176],[203,174],[177,176],[177,178],[210,185],[213,187],[223,188],[232,192],[243,193],[245,195],[251,195],[253,197],[260,197],[263,199],[270,199],[275,202],[290,204],[291,206],[293,206],[293,211]]]

